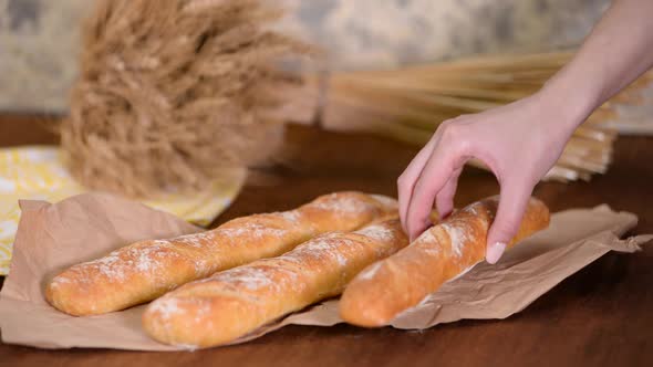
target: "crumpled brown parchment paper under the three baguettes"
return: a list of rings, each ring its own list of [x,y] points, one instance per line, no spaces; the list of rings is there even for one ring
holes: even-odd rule
[[[141,239],[196,232],[172,214],[101,193],[85,193],[59,203],[22,201],[10,274],[0,293],[2,340],[42,348],[104,347],[174,350],[141,328],[144,306],[92,317],[72,317],[43,297],[46,280],[81,261]],[[507,252],[497,265],[479,263],[446,283],[392,326],[426,328],[462,318],[504,318],[517,313],[567,276],[608,251],[633,252],[653,235],[619,240],[636,217],[607,206],[552,216],[549,229]],[[292,314],[242,343],[289,324],[330,326],[342,322],[338,301]]]

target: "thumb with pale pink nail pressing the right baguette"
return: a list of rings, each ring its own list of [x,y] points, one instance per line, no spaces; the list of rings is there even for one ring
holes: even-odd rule
[[[517,234],[531,192],[532,188],[520,181],[501,186],[497,216],[487,235],[485,259],[488,263],[496,264]]]

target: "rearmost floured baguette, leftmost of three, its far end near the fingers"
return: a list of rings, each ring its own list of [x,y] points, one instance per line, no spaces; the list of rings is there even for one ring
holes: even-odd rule
[[[45,297],[75,316],[118,311],[216,271],[279,255],[320,233],[354,230],[395,213],[396,201],[386,197],[325,195],[296,210],[237,218],[210,231],[127,245],[56,275]]]

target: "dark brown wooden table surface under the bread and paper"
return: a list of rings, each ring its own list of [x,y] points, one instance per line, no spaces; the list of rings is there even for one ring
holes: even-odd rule
[[[257,175],[217,223],[296,207],[334,190],[394,195],[416,153],[365,136],[291,128],[281,162]],[[0,146],[53,143],[33,118],[0,117]],[[297,151],[301,151],[298,155]],[[460,179],[456,203],[497,192],[478,170]],[[634,233],[653,233],[653,139],[622,138],[614,164],[591,182],[541,184],[553,211],[609,203],[640,217]],[[290,326],[245,345],[195,353],[104,349],[39,350],[0,344],[11,366],[653,366],[653,243],[610,253],[505,321],[464,321],[423,332]]]

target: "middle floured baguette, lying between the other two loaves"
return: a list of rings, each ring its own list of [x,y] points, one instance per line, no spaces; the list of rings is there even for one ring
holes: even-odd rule
[[[166,344],[209,347],[338,295],[362,269],[408,243],[398,219],[332,232],[286,254],[219,272],[149,304],[143,327]]]

